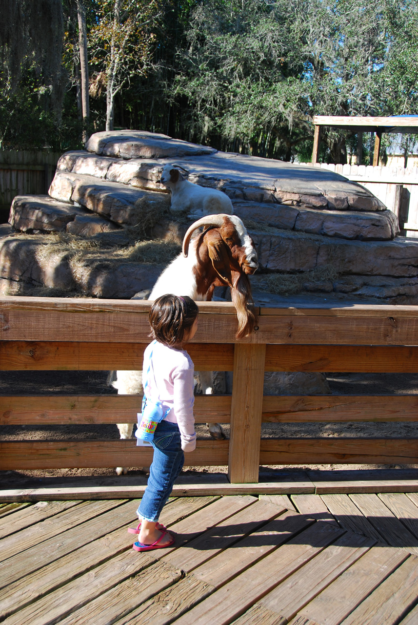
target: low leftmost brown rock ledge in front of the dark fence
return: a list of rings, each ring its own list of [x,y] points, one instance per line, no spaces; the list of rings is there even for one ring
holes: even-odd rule
[[[9,224],[21,232],[71,232],[90,236],[119,229],[111,221],[50,196],[16,196]]]

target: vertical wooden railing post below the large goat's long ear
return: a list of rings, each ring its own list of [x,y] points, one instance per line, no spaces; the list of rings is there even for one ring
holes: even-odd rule
[[[236,344],[231,398],[228,478],[258,482],[266,345]]]

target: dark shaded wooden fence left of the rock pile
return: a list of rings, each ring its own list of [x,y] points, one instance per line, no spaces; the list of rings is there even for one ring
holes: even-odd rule
[[[61,153],[0,150],[0,210],[9,211],[17,195],[47,194]]]

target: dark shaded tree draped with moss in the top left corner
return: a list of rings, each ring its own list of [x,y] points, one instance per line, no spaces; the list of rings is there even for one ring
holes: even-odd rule
[[[0,14],[0,146],[45,144],[64,96],[61,0],[0,0]]]

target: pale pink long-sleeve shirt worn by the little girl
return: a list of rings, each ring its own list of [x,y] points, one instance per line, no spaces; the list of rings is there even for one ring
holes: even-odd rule
[[[148,373],[147,397],[162,403],[163,412],[169,410],[166,421],[177,423],[182,439],[182,449],[193,451],[196,447],[195,417],[195,367],[187,351],[168,347],[158,341],[150,343],[143,354],[143,382],[152,350],[152,367]]]

